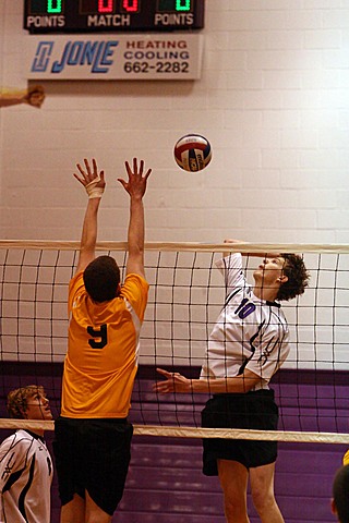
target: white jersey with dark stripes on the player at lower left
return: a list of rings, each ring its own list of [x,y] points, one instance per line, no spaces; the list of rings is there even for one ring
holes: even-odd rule
[[[17,430],[0,446],[0,523],[50,523],[52,461],[45,441]]]

